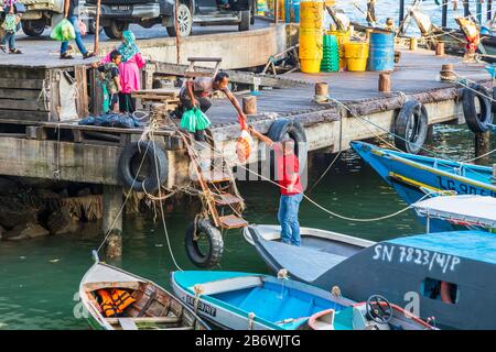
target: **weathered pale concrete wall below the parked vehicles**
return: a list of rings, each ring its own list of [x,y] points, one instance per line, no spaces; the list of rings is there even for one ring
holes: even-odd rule
[[[294,25],[278,24],[248,32],[218,33],[181,38],[180,64],[188,64],[187,57],[222,57],[223,69],[236,69],[265,65],[271,55],[287,48],[287,41],[294,36]],[[174,37],[140,40],[138,45],[145,58],[177,64]],[[100,54],[115,48],[101,44]],[[247,50],[249,48],[249,50]],[[244,55],[239,55],[240,52]],[[201,53],[201,54],[200,54]],[[201,64],[208,67],[208,64]]]

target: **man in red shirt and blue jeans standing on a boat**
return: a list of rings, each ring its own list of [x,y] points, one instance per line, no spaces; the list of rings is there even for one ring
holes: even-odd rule
[[[277,180],[281,190],[278,219],[281,224],[282,242],[301,245],[298,212],[303,200],[303,187],[300,182],[300,161],[294,154],[294,141],[291,139],[273,142],[268,136],[250,128],[251,133],[273,148],[276,154]]]

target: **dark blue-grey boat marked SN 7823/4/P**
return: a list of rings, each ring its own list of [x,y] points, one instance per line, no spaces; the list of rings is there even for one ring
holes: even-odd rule
[[[455,231],[370,242],[302,229],[302,246],[281,242],[280,228],[250,226],[245,238],[273,271],[364,301],[370,295],[454,329],[496,328],[496,241],[484,231]],[[410,310],[411,311],[411,310]]]

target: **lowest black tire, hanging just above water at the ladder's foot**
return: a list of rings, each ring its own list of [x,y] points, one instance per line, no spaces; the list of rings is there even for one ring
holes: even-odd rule
[[[195,230],[196,233],[206,235],[208,241],[207,253],[202,253],[200,250],[198,241],[195,237]],[[224,252],[224,240],[220,231],[212,224],[211,220],[201,219],[196,221],[196,226],[195,222],[192,221],[187,227],[184,244],[186,248],[187,257],[197,267],[213,267],[220,263]]]

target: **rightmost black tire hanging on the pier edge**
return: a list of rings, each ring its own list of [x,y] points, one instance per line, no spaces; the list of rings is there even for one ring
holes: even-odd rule
[[[474,85],[463,90],[463,114],[472,132],[489,131],[488,124],[493,123],[493,102],[487,97],[492,96],[489,89],[481,85]],[[476,100],[478,100],[481,107],[479,113],[477,113]]]

